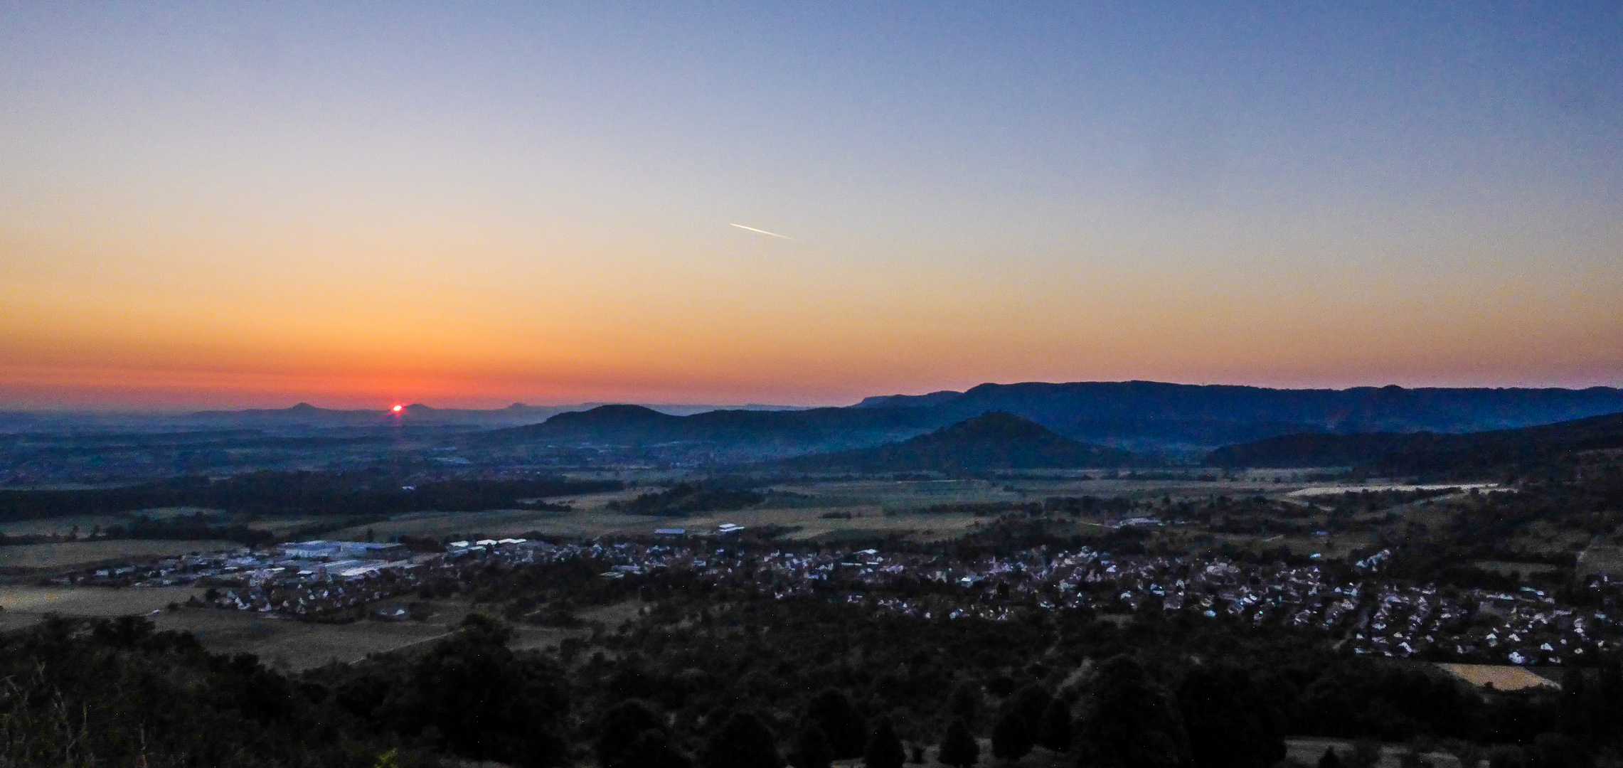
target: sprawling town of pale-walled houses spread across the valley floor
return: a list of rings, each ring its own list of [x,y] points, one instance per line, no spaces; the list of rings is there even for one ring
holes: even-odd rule
[[[738,526],[716,534],[737,533]],[[1612,654],[1623,623],[1612,619],[1623,583],[1600,575],[1591,607],[1560,606],[1535,588],[1514,593],[1440,591],[1383,575],[1378,552],[1352,563],[1352,580],[1319,565],[1256,565],[1222,557],[1120,555],[1037,547],[1013,557],[878,549],[750,550],[730,537],[662,531],[651,541],[526,539],[450,542],[443,554],[398,544],[310,541],[266,552],[154,560],[70,575],[62,583],[213,586],[206,604],[286,615],[321,615],[406,594],[435,578],[476,578],[485,568],[568,560],[601,567],[602,578],[657,583],[682,576],[747,586],[776,599],[823,598],[920,619],[1003,620],[1024,609],[1100,614],[1190,612],[1251,625],[1284,623],[1344,635],[1357,654],[1565,664]],[[758,544],[756,544],[758,547]]]

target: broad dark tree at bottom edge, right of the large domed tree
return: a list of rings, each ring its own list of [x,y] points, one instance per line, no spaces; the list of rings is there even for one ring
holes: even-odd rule
[[[1178,710],[1196,768],[1268,768],[1285,758],[1285,716],[1242,669],[1191,669]]]

